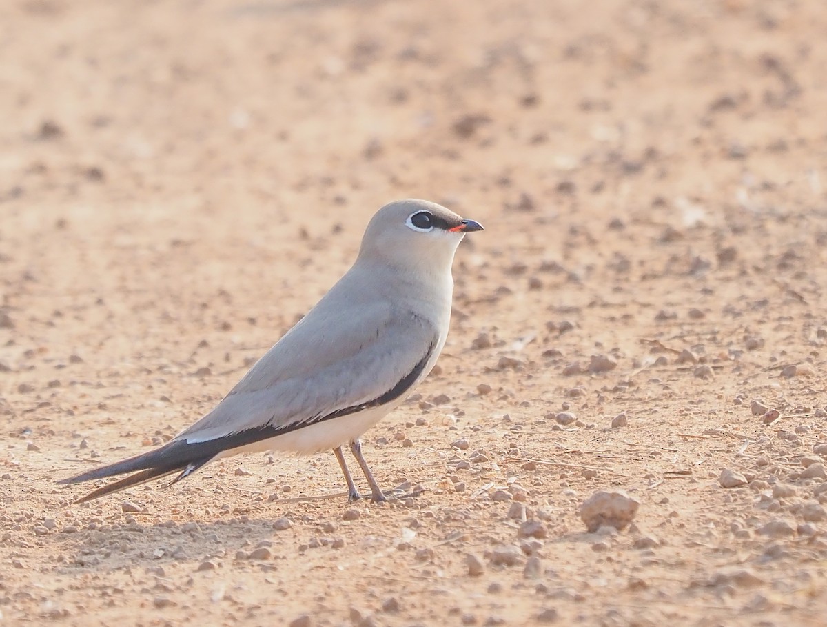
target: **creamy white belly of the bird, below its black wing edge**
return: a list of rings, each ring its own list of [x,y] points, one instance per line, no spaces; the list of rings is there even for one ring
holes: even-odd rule
[[[308,455],[315,452],[331,451],[342,446],[342,444],[347,444],[351,440],[359,438],[362,433],[365,433],[385,418],[385,415],[395,406],[395,404],[386,404],[356,414],[347,414],[320,423],[308,424],[307,427],[298,428],[275,438],[261,440],[243,447],[231,448],[220,453],[218,457],[230,457],[240,452],[284,451]]]

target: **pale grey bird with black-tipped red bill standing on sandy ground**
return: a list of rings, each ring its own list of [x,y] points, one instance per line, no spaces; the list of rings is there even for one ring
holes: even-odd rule
[[[201,419],[150,452],[58,481],[128,474],[77,503],[244,452],[332,450],[349,501],[361,498],[342,447],[387,500],[361,436],[399,406],[437,362],[451,320],[452,263],[466,233],[482,231],[439,204],[385,204],[368,223],[356,261],[298,323]],[[176,474],[177,473],[177,474]]]

